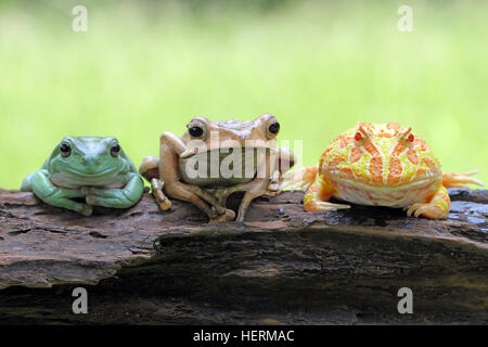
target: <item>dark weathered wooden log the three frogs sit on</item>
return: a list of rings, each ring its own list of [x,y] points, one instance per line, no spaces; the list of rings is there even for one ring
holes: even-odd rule
[[[447,220],[310,214],[285,192],[253,202],[245,223],[207,224],[150,194],[82,217],[0,190],[0,324],[486,324],[488,191],[449,193]],[[72,311],[79,286],[88,314]],[[397,310],[401,287],[412,314]]]

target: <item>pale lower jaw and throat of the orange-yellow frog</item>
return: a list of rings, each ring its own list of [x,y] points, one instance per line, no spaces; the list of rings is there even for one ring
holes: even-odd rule
[[[334,197],[358,205],[409,207],[425,203],[439,188],[440,181],[428,180],[400,187],[374,187],[346,180],[331,180],[337,193]]]

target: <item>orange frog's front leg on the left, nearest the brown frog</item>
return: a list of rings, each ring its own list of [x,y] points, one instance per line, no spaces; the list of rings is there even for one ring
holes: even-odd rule
[[[336,210],[349,208],[349,205],[333,204],[328,201],[334,194],[334,188],[331,182],[319,175],[313,183],[308,188],[304,197],[304,207],[307,211]]]

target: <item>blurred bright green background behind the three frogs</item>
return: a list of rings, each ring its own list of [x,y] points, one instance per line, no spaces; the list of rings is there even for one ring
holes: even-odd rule
[[[87,33],[72,30],[77,4]],[[476,0],[2,1],[0,187],[64,136],[116,136],[139,166],[193,116],[265,113],[304,141],[304,165],[359,120],[399,121],[444,170],[488,182],[487,33]]]

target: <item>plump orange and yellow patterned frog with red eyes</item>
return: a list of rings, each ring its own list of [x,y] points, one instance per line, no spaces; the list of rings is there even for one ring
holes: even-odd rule
[[[431,147],[398,123],[358,123],[333,140],[319,166],[285,176],[283,188],[306,188],[309,211],[348,208],[331,197],[360,205],[402,207],[409,216],[445,219],[446,187],[483,185],[465,174],[444,174]]]

